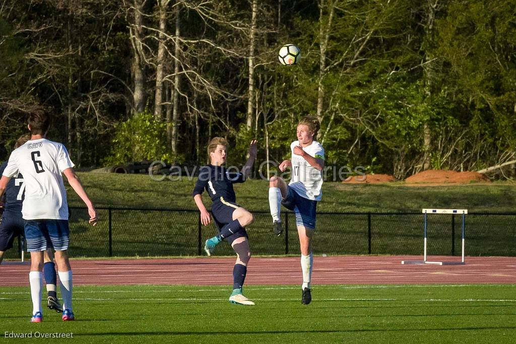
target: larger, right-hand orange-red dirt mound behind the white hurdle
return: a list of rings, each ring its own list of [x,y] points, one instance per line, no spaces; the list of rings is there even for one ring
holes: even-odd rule
[[[429,169],[405,179],[407,183],[490,183],[485,175],[473,171],[446,171]]]

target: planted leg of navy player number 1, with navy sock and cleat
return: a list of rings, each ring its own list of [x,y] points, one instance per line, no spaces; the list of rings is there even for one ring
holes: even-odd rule
[[[233,292],[229,302],[238,305],[254,306],[254,302],[246,298],[243,294],[244,281],[247,274],[247,264],[251,258],[249,240],[246,237],[236,238],[231,246],[236,253],[236,262],[233,267]]]

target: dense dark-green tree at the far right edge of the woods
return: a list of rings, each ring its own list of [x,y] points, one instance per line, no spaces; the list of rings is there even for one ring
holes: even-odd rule
[[[464,108],[467,168],[514,160],[516,151],[516,28],[514,2],[451,1],[437,21],[450,95]]]

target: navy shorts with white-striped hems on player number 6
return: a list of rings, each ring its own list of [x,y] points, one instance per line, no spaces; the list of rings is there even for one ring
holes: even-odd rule
[[[25,220],[25,240],[28,252],[54,248],[65,251],[70,242],[68,220]]]

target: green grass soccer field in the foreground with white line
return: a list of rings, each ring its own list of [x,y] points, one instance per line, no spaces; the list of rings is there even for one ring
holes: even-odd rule
[[[73,342],[509,343],[516,338],[514,285],[250,286],[256,306],[228,302],[223,286],[82,286],[75,322],[45,308],[28,323],[28,287],[0,289],[2,336],[73,333]],[[32,339],[11,339],[29,342]],[[66,340],[66,339],[61,339]]]

